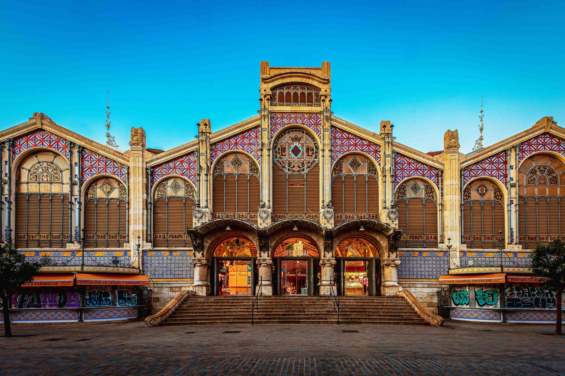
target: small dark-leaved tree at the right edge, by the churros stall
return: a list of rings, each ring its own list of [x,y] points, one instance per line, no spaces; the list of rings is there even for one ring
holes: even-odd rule
[[[547,245],[537,244],[530,256],[530,270],[536,277],[547,278],[541,285],[547,290],[557,291],[557,322],[555,335],[561,335],[561,298],[565,287],[565,243],[555,239]]]

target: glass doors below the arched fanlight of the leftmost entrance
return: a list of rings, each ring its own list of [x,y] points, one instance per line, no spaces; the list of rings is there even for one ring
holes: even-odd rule
[[[253,295],[253,260],[217,261],[218,295]]]

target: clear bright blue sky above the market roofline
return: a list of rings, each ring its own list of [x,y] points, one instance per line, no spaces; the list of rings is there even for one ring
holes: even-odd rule
[[[33,112],[105,143],[106,90],[120,149],[192,141],[256,114],[259,62],[332,64],[332,110],[397,141],[462,152],[565,126],[565,3],[554,1],[29,2],[0,5],[0,128]]]

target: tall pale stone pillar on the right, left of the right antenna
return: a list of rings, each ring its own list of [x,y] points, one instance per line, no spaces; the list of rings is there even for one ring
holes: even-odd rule
[[[461,175],[459,166],[459,132],[447,130],[444,135],[444,242],[451,238],[450,267],[459,266],[461,249]]]

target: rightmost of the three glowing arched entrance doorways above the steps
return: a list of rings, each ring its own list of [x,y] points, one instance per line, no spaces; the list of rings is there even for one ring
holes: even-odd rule
[[[334,256],[338,295],[380,295],[380,257],[371,241],[349,237],[338,244]]]

